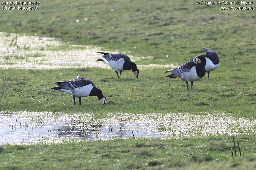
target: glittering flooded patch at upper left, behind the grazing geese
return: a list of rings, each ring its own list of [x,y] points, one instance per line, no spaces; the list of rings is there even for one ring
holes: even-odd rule
[[[96,62],[101,55],[100,47],[71,45],[54,38],[36,37],[0,32],[0,61],[3,69],[58,69],[78,67],[100,67],[110,69],[103,62]],[[107,51],[106,51],[107,52]],[[113,52],[113,51],[112,51]],[[117,51],[116,51],[117,52]],[[129,51],[127,52],[129,55]],[[148,57],[133,57],[138,61]],[[172,64],[138,65],[139,69],[153,67],[174,68]]]

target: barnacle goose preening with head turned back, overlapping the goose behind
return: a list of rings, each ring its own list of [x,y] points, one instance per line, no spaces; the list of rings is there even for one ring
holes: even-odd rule
[[[166,76],[170,78],[181,78],[181,80],[186,81],[187,89],[188,89],[188,81],[191,82],[191,89],[193,89],[194,81],[199,80],[205,75],[205,64],[206,60],[203,56],[197,56],[196,63],[187,62],[180,67],[176,67],[172,70],[168,70],[167,72],[172,72],[171,75]]]

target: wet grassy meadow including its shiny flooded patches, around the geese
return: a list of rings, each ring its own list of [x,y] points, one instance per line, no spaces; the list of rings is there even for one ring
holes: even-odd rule
[[[1,168],[255,168],[254,11],[192,1],[67,3],[2,11]],[[187,90],[165,78],[203,47],[220,58],[210,80]],[[129,55],[139,78],[129,70],[118,79],[96,62],[98,51]],[[50,90],[77,76],[92,80],[107,104],[92,96],[74,106]]]

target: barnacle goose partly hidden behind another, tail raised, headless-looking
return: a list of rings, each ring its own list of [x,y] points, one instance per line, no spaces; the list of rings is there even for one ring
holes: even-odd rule
[[[204,47],[204,51],[206,52],[206,55],[201,54],[198,56],[203,56],[206,59],[205,71],[208,73],[208,80],[209,80],[210,71],[215,70],[220,66],[220,60],[215,51],[209,50],[208,48],[205,48],[205,47]],[[196,63],[196,57],[191,58],[189,61],[193,61],[194,63]]]

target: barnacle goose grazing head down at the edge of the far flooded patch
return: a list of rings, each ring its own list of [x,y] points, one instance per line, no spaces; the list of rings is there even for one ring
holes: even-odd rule
[[[102,58],[96,60],[96,61],[103,61],[104,63],[108,64],[113,70],[116,71],[117,77],[120,78],[121,73],[123,70],[131,70],[133,74],[138,78],[139,76],[139,70],[137,69],[137,65],[133,62],[131,62],[131,59],[122,53],[117,54],[110,54],[110,53],[103,53],[103,52],[97,52],[102,55]],[[120,71],[120,76],[118,76],[117,70]]]

